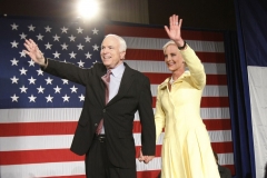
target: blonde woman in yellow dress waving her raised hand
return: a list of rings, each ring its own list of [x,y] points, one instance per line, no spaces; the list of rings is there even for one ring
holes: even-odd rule
[[[169,28],[165,27],[170,41],[164,46],[164,55],[171,76],[158,86],[155,113],[157,139],[165,128],[161,178],[219,178],[209,135],[200,118],[206,73],[181,38],[181,22],[174,14]]]

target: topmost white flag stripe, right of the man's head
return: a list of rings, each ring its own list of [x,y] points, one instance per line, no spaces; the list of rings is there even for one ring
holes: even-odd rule
[[[128,49],[152,49],[162,50],[162,47],[169,39],[159,38],[137,38],[122,37],[126,40]],[[225,52],[224,41],[198,41],[187,40],[187,43],[196,51],[202,52]]]

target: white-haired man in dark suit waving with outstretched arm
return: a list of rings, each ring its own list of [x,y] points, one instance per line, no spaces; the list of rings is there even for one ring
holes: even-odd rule
[[[136,111],[142,126],[141,150],[146,164],[155,155],[156,129],[149,79],[123,62],[125,40],[116,34],[107,36],[101,44],[102,63],[95,63],[90,69],[44,58],[32,40],[26,40],[24,47],[24,52],[43,71],[86,87],[70,149],[86,155],[87,178],[136,178],[132,137]],[[109,78],[107,86],[103,77]]]

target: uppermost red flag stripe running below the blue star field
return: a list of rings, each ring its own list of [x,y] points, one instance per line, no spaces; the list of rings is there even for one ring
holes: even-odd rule
[[[229,130],[230,119],[205,119],[208,130]],[[73,135],[77,121],[0,123],[0,137]],[[140,121],[134,121],[135,134],[141,132]]]

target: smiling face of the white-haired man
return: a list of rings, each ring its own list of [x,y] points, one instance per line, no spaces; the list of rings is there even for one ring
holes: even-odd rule
[[[107,69],[113,69],[122,63],[125,51],[119,51],[119,40],[115,37],[106,37],[102,41],[100,56]]]

